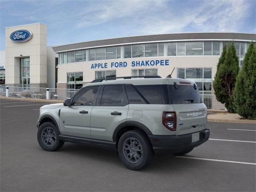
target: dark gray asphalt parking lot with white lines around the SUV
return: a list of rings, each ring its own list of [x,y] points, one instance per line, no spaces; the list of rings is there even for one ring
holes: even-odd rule
[[[65,143],[46,152],[36,139],[47,102],[0,99],[0,191],[255,191],[255,124],[208,122],[210,140],[181,157],[155,157],[141,171],[114,151]]]

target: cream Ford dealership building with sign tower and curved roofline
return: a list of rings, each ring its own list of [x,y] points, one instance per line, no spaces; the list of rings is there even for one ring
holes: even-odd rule
[[[99,78],[168,76],[194,80],[202,94],[212,81],[223,46],[234,41],[240,67],[256,34],[196,32],[156,34],[47,46],[42,23],[7,27],[0,52],[0,83],[79,89]]]

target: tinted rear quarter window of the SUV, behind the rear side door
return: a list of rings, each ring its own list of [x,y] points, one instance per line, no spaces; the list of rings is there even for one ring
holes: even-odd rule
[[[136,85],[149,104],[163,104],[160,85]]]

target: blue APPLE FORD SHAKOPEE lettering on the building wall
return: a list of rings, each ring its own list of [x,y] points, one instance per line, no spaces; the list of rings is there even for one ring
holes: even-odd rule
[[[110,68],[120,68],[126,67],[128,64],[127,62],[111,62]],[[161,60],[140,60],[140,61],[132,61],[132,67],[140,67],[140,66],[168,66],[169,60],[168,59],[161,59]],[[98,69],[98,68],[108,68],[108,63],[94,63],[91,65],[91,69]]]

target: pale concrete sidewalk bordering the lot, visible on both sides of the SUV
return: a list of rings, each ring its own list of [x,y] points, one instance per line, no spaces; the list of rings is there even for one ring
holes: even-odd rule
[[[0,96],[0,99],[8,100],[26,100],[26,101],[37,101],[37,102],[49,102],[49,103],[63,103],[63,100],[52,100],[52,99],[34,99],[34,98],[16,98],[16,97],[5,97]],[[234,113],[228,113],[226,110],[207,110],[207,120],[214,122],[229,122],[229,123],[254,123],[256,120],[242,119],[241,116]]]

